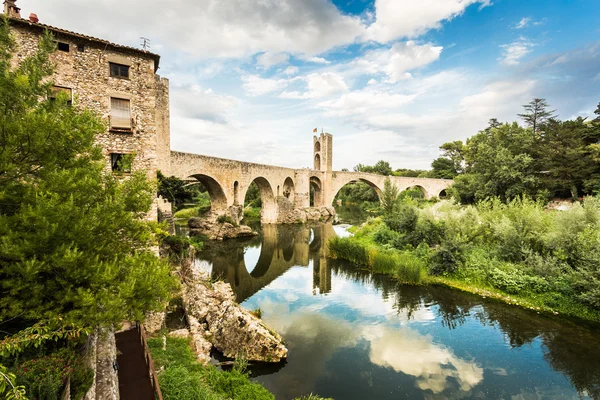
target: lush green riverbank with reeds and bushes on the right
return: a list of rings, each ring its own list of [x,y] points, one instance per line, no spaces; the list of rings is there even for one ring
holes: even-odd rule
[[[599,323],[599,221],[595,198],[563,212],[529,201],[479,209],[404,205],[329,246],[332,257],[403,283],[443,285]]]

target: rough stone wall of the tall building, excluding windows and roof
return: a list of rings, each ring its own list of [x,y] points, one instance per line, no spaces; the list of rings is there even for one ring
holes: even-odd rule
[[[13,63],[33,54],[45,26],[26,20],[11,19],[11,32],[16,42]],[[110,153],[134,154],[133,170],[146,170],[156,176],[159,160],[167,160],[169,152],[168,81],[155,75],[157,56],[135,49],[109,46],[93,38],[52,30],[57,41],[67,43],[69,51],[55,51],[51,61],[56,71],[56,86],[69,88],[73,104],[95,111],[106,121],[107,130],[97,142],[111,169]],[[109,62],[129,66],[129,79],[111,77]],[[111,97],[130,100],[131,133],[115,133],[108,129]]]

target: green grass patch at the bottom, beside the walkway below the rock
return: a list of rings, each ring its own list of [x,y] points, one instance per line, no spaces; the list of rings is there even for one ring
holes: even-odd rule
[[[167,337],[166,341],[163,350],[162,338],[148,340],[152,358],[157,368],[162,369],[158,380],[166,400],[274,399],[264,387],[250,382],[243,361],[236,362],[229,372],[213,366],[204,367],[196,361],[186,339]]]

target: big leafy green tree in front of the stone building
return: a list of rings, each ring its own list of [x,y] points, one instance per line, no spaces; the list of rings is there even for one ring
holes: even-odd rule
[[[0,22],[0,321],[141,321],[176,282],[151,250],[155,189],[144,171],[105,170],[97,115],[50,100],[54,46],[46,33],[11,68],[14,43]]]

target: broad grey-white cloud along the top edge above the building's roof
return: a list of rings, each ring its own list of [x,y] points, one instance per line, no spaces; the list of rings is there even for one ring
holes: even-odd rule
[[[312,56],[353,43],[364,31],[359,17],[329,0],[31,0],[23,14],[29,12],[46,24],[135,47],[145,36],[154,50],[200,58],[265,51]],[[90,15],[103,22],[90,24]]]

